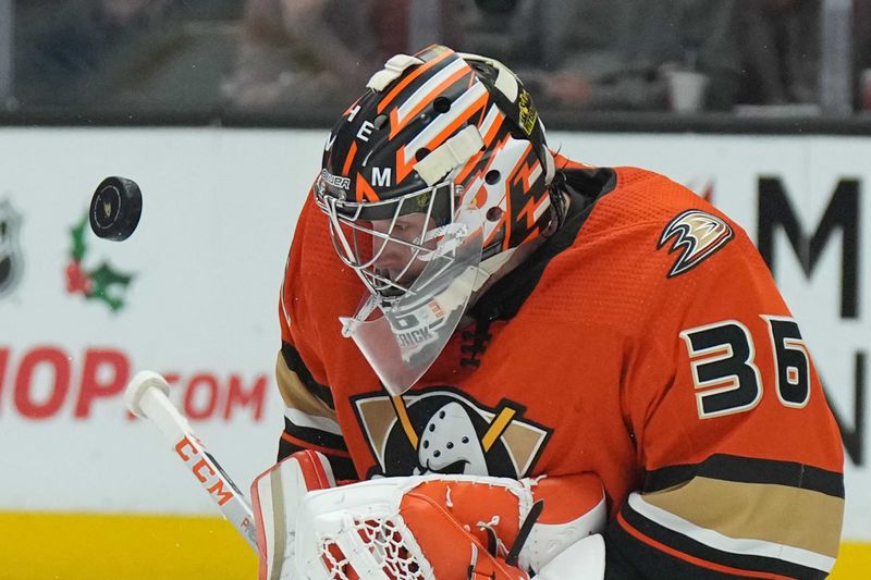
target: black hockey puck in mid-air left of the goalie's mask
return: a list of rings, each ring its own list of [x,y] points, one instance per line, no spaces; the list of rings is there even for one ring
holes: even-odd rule
[[[90,229],[99,237],[121,242],[131,236],[143,213],[139,186],[124,177],[106,177],[90,200]]]

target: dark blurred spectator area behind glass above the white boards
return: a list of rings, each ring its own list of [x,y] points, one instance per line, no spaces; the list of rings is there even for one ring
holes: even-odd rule
[[[436,41],[502,60],[555,128],[871,109],[869,0],[0,0],[0,113],[329,125]]]

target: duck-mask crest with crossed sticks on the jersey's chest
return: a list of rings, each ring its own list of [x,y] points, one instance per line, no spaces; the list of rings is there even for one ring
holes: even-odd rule
[[[443,386],[401,397],[383,392],[354,397],[357,420],[376,459],[367,478],[465,473],[530,474],[551,430],[523,417],[503,399],[487,408]]]

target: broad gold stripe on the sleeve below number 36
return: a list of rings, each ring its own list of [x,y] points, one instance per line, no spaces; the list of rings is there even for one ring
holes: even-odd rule
[[[648,504],[728,538],[751,539],[837,556],[844,499],[771,483],[697,477],[643,494]]]

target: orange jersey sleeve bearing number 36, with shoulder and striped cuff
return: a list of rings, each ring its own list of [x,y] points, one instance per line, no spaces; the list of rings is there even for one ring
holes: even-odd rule
[[[646,195],[682,189],[662,180]],[[631,229],[648,244],[636,281],[651,314],[638,321],[622,404],[646,477],[609,529],[608,577],[824,578],[844,508],[837,425],[752,243],[692,201],[663,202],[671,217]]]

